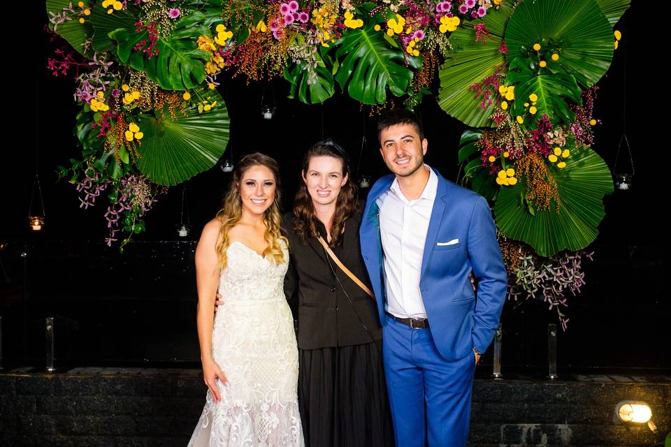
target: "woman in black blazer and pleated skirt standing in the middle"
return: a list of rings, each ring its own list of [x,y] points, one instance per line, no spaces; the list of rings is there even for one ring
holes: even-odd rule
[[[284,219],[289,272],[298,295],[298,402],[305,445],[392,446],[382,366],[382,330],[373,300],[326,254],[319,235],[370,288],[359,245],[361,206],[347,154],[331,140],[303,159],[294,211]]]

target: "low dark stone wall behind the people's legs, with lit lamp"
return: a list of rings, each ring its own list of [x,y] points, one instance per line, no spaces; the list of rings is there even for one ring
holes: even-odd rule
[[[671,430],[669,376],[476,379],[469,446],[650,446]],[[652,406],[658,434],[616,423]],[[205,402],[196,369],[0,373],[0,446],[186,446]]]

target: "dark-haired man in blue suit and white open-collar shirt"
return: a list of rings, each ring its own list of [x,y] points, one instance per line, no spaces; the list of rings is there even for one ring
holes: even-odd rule
[[[377,131],[392,174],[368,193],[361,251],[396,445],[466,446],[473,372],[505,300],[496,226],[482,196],[424,164],[428,141],[412,112],[388,112]]]

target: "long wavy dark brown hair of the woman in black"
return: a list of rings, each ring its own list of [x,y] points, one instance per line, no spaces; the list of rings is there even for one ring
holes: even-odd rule
[[[335,214],[331,225],[331,247],[335,247],[345,232],[345,220],[356,212],[359,206],[359,192],[356,184],[352,181],[352,175],[349,169],[349,159],[347,152],[337,145],[333,140],[324,140],[312,145],[303,157],[303,173],[308,173],[310,159],[313,156],[332,156],[342,162],[342,175],[347,175],[347,182],[340,189],[338,198],[335,201]],[[291,228],[296,230],[296,234],[301,237],[304,244],[308,243],[308,237],[317,237],[317,217],[315,216],[315,207],[312,205],[312,198],[308,193],[308,186],[301,182],[294,200],[294,223]]]

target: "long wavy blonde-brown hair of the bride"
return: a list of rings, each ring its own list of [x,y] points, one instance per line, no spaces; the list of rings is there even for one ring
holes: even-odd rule
[[[252,166],[265,166],[270,169],[275,177],[275,198],[272,205],[264,212],[264,223],[266,224],[266,232],[264,239],[268,241],[268,247],[264,250],[263,255],[272,259],[275,264],[284,262],[284,253],[280,240],[284,240],[286,247],[289,247],[289,241],[280,233],[282,228],[282,215],[280,214],[280,168],[277,166],[277,161],[271,159],[269,156],[254,152],[243,156],[238,162],[236,170],[233,172],[233,179],[229,185],[229,191],[224,197],[224,207],[217,213],[217,219],[222,222],[222,228],[219,230],[219,243],[217,244],[217,254],[219,254],[219,268],[226,268],[226,249],[231,245],[229,240],[229,230],[236,226],[236,223],[243,217],[243,200],[240,197],[238,185],[243,179],[245,171]]]

